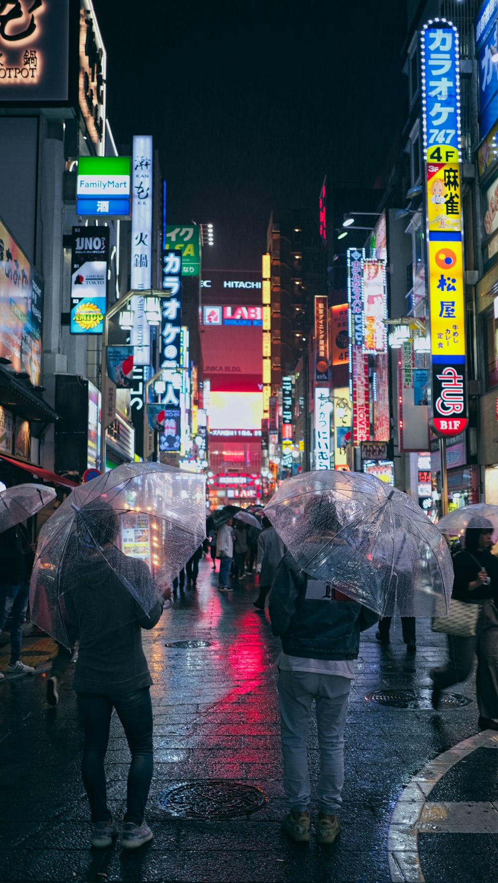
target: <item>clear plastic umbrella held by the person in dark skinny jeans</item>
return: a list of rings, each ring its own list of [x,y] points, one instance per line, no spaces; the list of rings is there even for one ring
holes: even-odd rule
[[[94,638],[147,615],[204,540],[205,500],[204,476],[156,463],[75,488],[41,528],[32,621],[69,647],[82,605]]]

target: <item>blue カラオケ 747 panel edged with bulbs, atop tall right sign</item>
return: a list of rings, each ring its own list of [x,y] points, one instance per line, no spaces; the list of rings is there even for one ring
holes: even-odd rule
[[[424,25],[420,41],[424,155],[438,144],[460,158],[460,49],[458,32],[446,19]]]

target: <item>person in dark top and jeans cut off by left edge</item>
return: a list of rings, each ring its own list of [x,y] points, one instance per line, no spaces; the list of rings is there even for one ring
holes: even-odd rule
[[[11,616],[11,658],[7,672],[11,675],[34,675],[33,666],[20,658],[23,625],[29,600],[29,577],[34,552],[22,525],[0,533],[0,631]],[[4,675],[0,672],[0,679]]]

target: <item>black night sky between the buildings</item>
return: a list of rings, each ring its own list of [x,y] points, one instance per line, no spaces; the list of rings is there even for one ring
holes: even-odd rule
[[[404,124],[404,0],[94,8],[117,145],[152,133],[169,223],[215,225],[207,268],[259,269],[271,208],[314,209],[325,172],[373,186]]]

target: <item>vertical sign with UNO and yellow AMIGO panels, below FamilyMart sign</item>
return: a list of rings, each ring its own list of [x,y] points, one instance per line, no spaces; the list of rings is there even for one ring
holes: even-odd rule
[[[72,228],[71,334],[102,334],[109,227]]]

